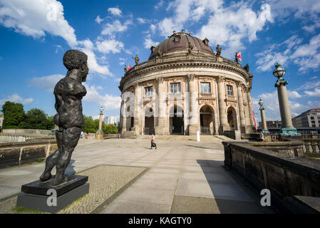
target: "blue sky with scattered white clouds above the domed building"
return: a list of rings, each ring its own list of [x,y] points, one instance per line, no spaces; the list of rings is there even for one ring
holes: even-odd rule
[[[272,76],[284,66],[291,114],[320,108],[320,1],[0,0],[0,105],[23,103],[55,114],[53,86],[66,75],[63,53],[88,55],[83,113],[119,115],[123,66],[147,61],[150,46],[172,31],[209,38],[222,56],[242,52],[253,73],[254,110],[262,98],[268,120],[279,120]],[[259,115],[258,115],[259,116]],[[259,118],[258,118],[259,120]]]

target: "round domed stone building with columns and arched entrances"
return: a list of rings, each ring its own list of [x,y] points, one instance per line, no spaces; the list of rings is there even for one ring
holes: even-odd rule
[[[128,135],[252,133],[252,73],[185,31],[150,48],[121,78],[120,128]],[[239,138],[239,137],[238,137]]]

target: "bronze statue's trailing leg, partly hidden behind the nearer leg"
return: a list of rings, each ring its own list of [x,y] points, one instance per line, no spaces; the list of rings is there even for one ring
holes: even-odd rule
[[[60,151],[63,150],[62,135],[63,134],[61,130],[56,131],[56,141],[58,149],[46,158],[46,167],[44,168],[43,174],[40,177],[41,181],[46,181],[51,178],[51,170],[56,165],[57,159],[60,155]]]

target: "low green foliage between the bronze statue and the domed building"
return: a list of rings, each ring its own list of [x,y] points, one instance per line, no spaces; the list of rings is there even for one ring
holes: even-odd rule
[[[83,115],[84,118],[84,126],[82,128],[84,133],[96,133],[99,129],[99,120],[93,120],[91,116]],[[117,134],[118,127],[113,124],[106,125],[104,122],[102,123],[102,130],[105,134]]]

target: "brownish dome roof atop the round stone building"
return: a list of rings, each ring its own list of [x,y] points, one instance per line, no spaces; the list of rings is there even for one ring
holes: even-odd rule
[[[195,36],[191,36],[189,33],[181,32],[181,33],[173,33],[169,38],[165,41],[162,41],[158,45],[158,47],[151,47],[151,54],[149,56],[149,60],[153,59],[157,56],[158,48],[162,51],[162,54],[172,53],[176,51],[188,51],[189,42],[193,46],[193,51],[199,51],[202,53],[207,53],[210,55],[215,55],[215,52],[212,51],[212,48],[209,46],[209,40],[205,38],[205,40],[200,40]]]

